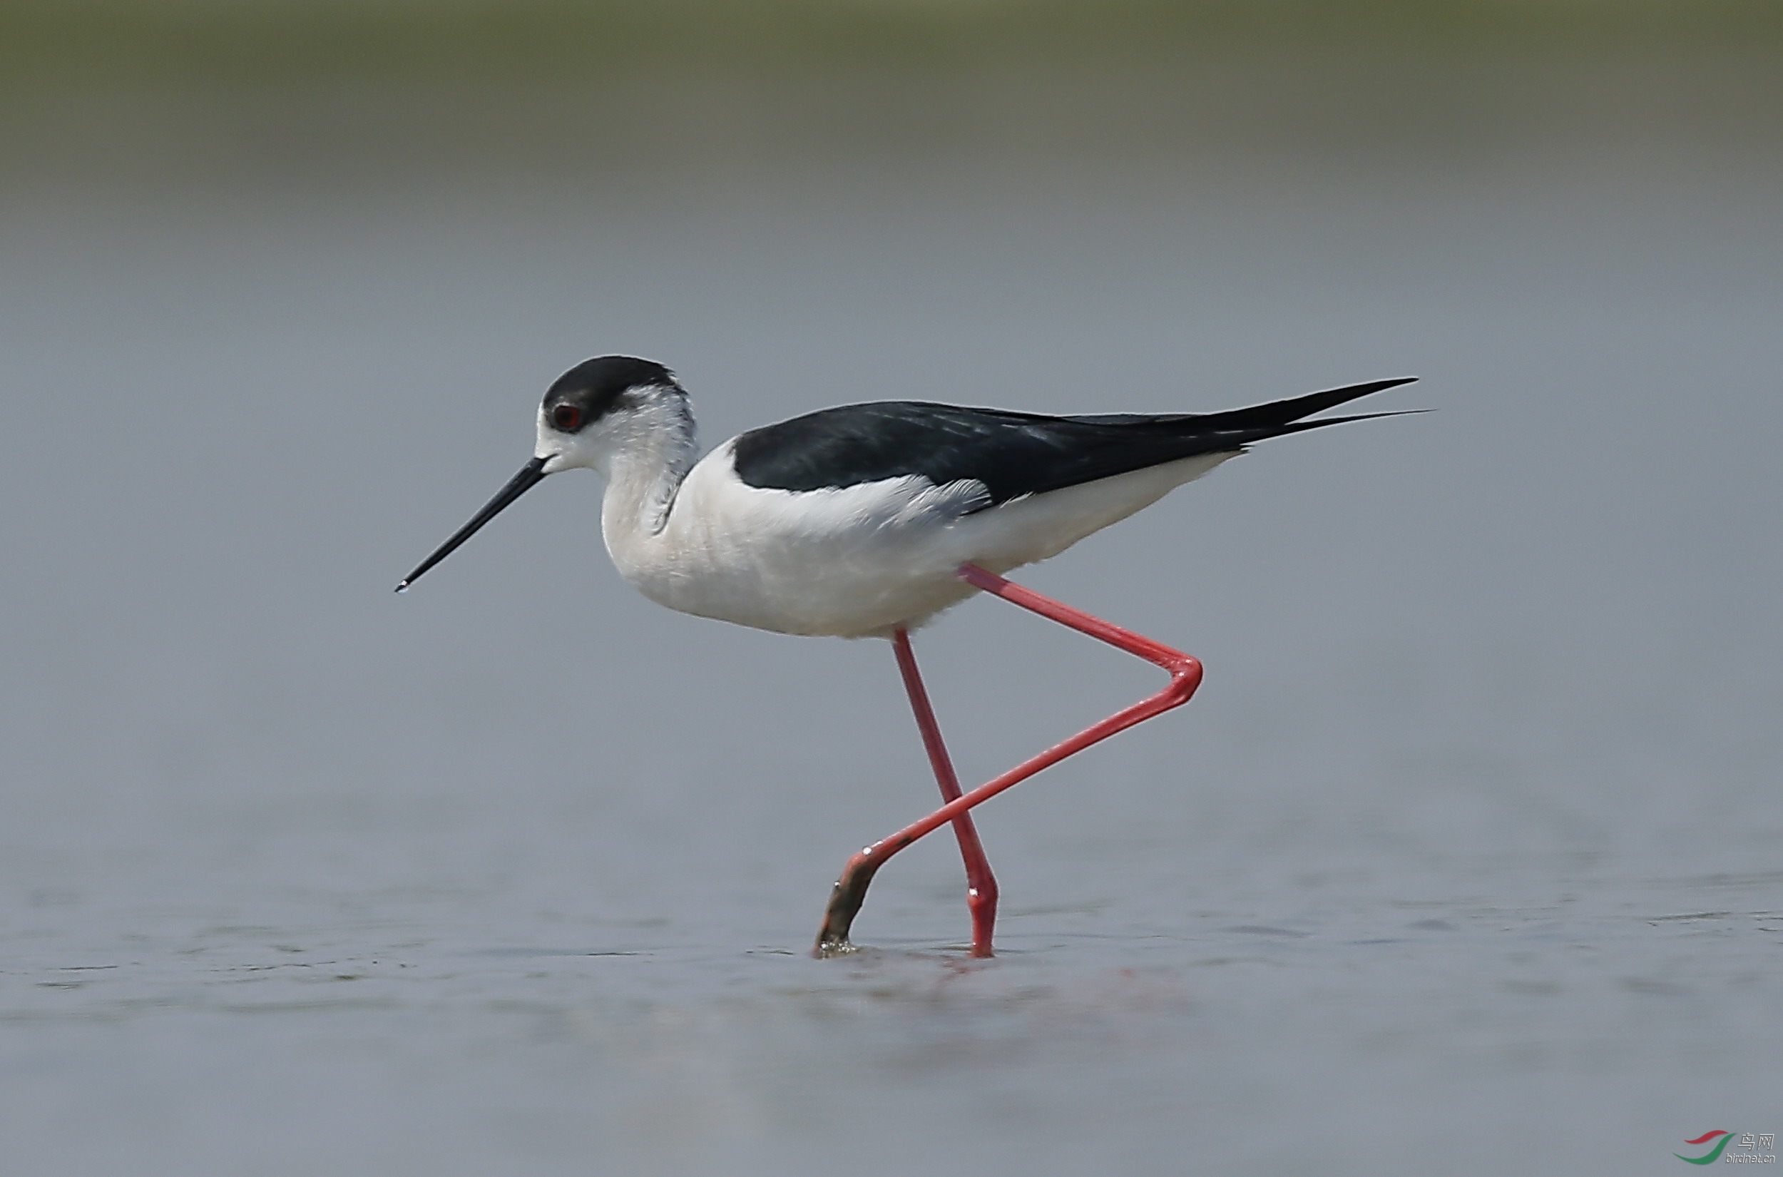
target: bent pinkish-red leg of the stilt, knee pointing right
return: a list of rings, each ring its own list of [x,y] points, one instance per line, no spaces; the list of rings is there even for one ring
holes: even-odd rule
[[[965,817],[974,806],[990,801],[1013,785],[1020,785],[1041,769],[1052,767],[1066,756],[1080,753],[1091,744],[1109,738],[1116,731],[1125,731],[1127,728],[1168,712],[1170,708],[1182,706],[1189,701],[1189,696],[1195,694],[1195,688],[1202,685],[1202,663],[1179,649],[1164,646],[1163,642],[1154,642],[1152,638],[1134,633],[1132,630],[1122,630],[1120,626],[1102,621],[1100,617],[1091,617],[1082,610],[1054,601],[1052,597],[1041,596],[1032,588],[1023,588],[1022,585],[1007,581],[995,572],[986,572],[975,564],[961,564],[959,578],[977,588],[982,588],[984,592],[1002,597],[1004,601],[1020,605],[1022,608],[1032,610],[1041,617],[1050,617],[1063,626],[1070,626],[1079,633],[1088,633],[1089,637],[1107,642],[1109,646],[1125,649],[1129,654],[1138,654],[1139,658],[1168,671],[1170,683],[1155,696],[1145,697],[1129,708],[1114,712],[1102,722],[1091,724],[1072,738],[1054,744],[1038,756],[1023,760],[1015,769],[1009,769],[1002,776],[979,785],[970,794],[949,801],[920,822],[906,826],[890,838],[874,842],[859,854],[849,858],[847,865],[842,868],[842,877],[836,879],[836,886],[829,893],[829,906],[824,910],[824,926],[817,933],[817,956],[831,956],[849,951],[849,927],[854,924],[854,915],[861,910],[861,902],[867,899],[867,886],[874,881],[874,874],[879,867],[883,867],[886,860],[902,851],[906,845],[927,833],[933,833],[934,829],[940,829],[947,822]],[[974,936],[974,951],[977,951],[977,938]],[[988,938],[984,942],[984,949],[990,951]]]

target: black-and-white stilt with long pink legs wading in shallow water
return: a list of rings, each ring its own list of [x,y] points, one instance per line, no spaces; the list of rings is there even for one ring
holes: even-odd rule
[[[849,860],[817,952],[849,951],[849,927],[874,872],[952,822],[966,865],[972,954],[990,956],[997,881],[968,810],[1187,703],[1202,681],[1195,658],[1002,574],[1059,555],[1252,442],[1396,416],[1305,419],[1409,382],[1375,380],[1214,414],[1045,417],[924,401],[845,405],[751,430],[699,457],[694,414],[674,373],[606,355],[551,385],[538,407],[533,460],[396,590],[546,474],[587,465],[606,478],[606,551],[653,601],[779,633],[890,638],[945,804]],[[1157,663],[1170,683],[961,794],[909,631],[979,590]]]

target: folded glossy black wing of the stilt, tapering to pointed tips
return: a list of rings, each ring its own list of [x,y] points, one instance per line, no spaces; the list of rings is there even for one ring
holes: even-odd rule
[[[974,480],[990,490],[986,506],[993,506],[1163,462],[1232,453],[1321,424],[1391,417],[1396,414],[1302,421],[1410,380],[1375,380],[1212,414],[1047,417],[925,401],[843,405],[740,435],[735,464],[751,487],[776,490],[824,490],[908,474],[936,485]]]

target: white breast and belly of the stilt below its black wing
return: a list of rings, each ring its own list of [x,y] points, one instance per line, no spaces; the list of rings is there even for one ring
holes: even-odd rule
[[[660,531],[628,528],[613,512],[603,512],[603,524],[619,572],[660,605],[779,633],[870,637],[920,626],[977,592],[956,576],[961,564],[1007,572],[1045,560],[1228,457],[974,510],[984,487],[970,482],[749,487],[724,446],[688,473]]]

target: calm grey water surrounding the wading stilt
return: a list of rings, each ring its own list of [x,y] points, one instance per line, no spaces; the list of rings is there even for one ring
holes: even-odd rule
[[[1776,1132],[1779,185],[1646,160],[0,216],[5,1172],[1674,1173]],[[1225,408],[1419,374],[1025,580],[1207,663],[984,810],[881,642],[633,596],[544,385]],[[1152,687],[918,635],[968,778]]]

